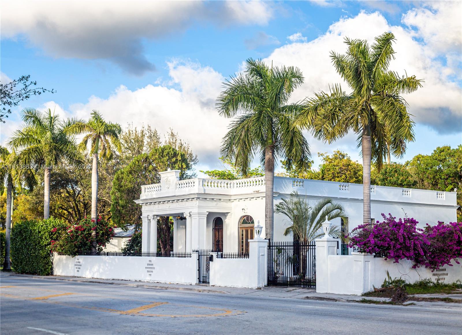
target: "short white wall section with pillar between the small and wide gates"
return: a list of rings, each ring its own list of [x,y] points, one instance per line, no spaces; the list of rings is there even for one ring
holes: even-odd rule
[[[267,284],[268,241],[249,240],[249,258],[217,258],[211,252],[210,285],[228,287],[263,287]]]

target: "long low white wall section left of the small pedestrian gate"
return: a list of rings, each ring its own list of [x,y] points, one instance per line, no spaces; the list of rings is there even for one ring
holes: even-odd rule
[[[192,257],[54,255],[53,274],[100,279],[167,283],[197,282],[197,253]]]

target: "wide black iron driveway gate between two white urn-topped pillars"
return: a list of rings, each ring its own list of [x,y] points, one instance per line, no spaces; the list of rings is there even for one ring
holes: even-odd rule
[[[268,285],[316,287],[316,245],[297,242],[270,243]]]

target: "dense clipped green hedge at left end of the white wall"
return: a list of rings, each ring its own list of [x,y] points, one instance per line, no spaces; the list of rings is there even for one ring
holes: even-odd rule
[[[52,274],[51,240],[58,238],[59,233],[54,229],[56,227],[66,227],[66,225],[55,218],[22,221],[14,225],[11,229],[11,260],[16,272],[34,275]]]

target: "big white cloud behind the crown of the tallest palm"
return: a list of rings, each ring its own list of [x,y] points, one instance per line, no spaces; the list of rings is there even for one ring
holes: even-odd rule
[[[435,20],[447,19],[438,16],[438,13],[434,15]],[[342,83],[331,64],[329,52],[335,50],[344,53],[345,36],[373,42],[374,37],[384,31],[393,32],[397,40],[394,45],[396,60],[391,62],[390,69],[402,75],[406,70],[408,75],[425,79],[423,88],[404,96],[410,104],[414,120],[440,133],[461,132],[462,94],[459,84],[452,77],[454,73],[460,72],[460,68],[449,67],[441,60],[444,50],[449,46],[439,50],[433,48],[432,44],[419,42],[413,38],[413,30],[390,25],[378,12],[361,12],[353,18],[342,18],[315,40],[284,45],[275,49],[266,60],[273,61],[275,65],[298,66],[303,71],[305,84],[293,96],[294,100],[300,100],[307,95],[311,96],[312,92],[328,90],[328,84]],[[458,57],[460,59],[460,53]],[[343,88],[348,90],[346,84],[343,84]]]

